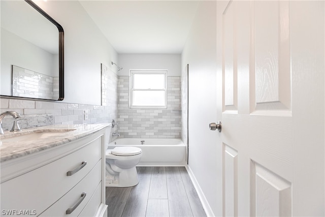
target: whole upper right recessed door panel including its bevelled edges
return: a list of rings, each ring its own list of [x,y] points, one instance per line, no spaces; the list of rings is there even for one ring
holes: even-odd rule
[[[255,78],[255,100],[252,93],[251,103],[260,113],[290,110],[289,3],[256,1],[250,5],[254,52],[251,77]]]

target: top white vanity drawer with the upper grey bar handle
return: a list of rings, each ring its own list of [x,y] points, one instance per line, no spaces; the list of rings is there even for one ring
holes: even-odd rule
[[[1,209],[36,210],[37,215],[43,212],[100,161],[102,140],[100,136],[65,157],[1,183]],[[87,163],[83,168],[67,176],[68,171],[80,167],[84,161]]]

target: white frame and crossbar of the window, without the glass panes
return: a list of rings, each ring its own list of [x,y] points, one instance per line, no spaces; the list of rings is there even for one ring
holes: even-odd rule
[[[134,75],[135,74],[164,74],[165,76],[165,88],[164,89],[136,89],[134,88]],[[129,107],[134,109],[167,109],[167,76],[168,70],[130,70],[130,92],[129,92]],[[164,106],[134,106],[133,105],[133,92],[134,91],[165,91],[165,105]]]

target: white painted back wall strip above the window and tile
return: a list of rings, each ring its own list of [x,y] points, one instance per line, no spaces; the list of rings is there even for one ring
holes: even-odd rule
[[[167,69],[168,76],[181,76],[180,54],[119,54],[116,64],[123,67],[119,76],[129,76],[130,69]]]

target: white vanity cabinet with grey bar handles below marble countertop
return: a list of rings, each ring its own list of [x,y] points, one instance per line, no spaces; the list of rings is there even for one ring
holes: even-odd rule
[[[2,216],[107,216],[105,129],[1,164]]]

